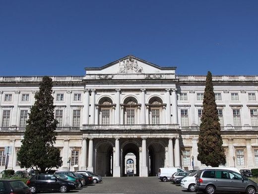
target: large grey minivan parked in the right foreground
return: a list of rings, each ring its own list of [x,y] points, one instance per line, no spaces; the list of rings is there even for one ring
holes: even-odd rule
[[[196,190],[214,194],[217,191],[256,194],[258,185],[252,180],[231,170],[204,169],[195,178]]]

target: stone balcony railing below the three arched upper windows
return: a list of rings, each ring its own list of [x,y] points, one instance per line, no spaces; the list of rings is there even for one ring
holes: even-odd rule
[[[82,130],[180,130],[178,124],[158,124],[158,125],[83,125]]]

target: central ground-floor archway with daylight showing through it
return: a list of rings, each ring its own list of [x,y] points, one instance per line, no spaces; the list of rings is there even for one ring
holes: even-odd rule
[[[133,175],[139,176],[139,148],[133,144],[128,143],[123,147],[122,155],[122,176],[128,176],[128,165],[127,162],[129,159],[133,162]],[[136,162],[136,164],[135,164]],[[131,173],[130,173],[131,174]]]

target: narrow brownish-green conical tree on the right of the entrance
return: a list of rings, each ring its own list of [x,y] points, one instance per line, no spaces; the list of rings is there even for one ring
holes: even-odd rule
[[[197,159],[206,166],[218,167],[226,163],[222,146],[217,104],[213,92],[212,75],[208,72],[203,97]]]

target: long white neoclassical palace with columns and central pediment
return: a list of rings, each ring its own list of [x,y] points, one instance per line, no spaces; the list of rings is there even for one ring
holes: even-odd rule
[[[160,167],[205,168],[197,142],[206,76],[178,76],[127,56],[84,76],[56,76],[59,170],[156,176]],[[0,171],[16,154],[42,77],[0,77]],[[213,76],[226,166],[258,168],[258,76]],[[40,153],[39,153],[40,154]],[[194,156],[194,160],[192,160]]]

